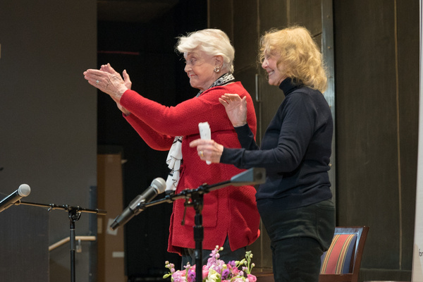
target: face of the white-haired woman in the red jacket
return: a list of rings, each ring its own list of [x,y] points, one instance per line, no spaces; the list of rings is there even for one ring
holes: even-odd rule
[[[196,48],[186,54],[184,70],[190,78],[190,85],[204,91],[221,76],[221,72],[214,71],[221,65],[221,56],[211,56]]]

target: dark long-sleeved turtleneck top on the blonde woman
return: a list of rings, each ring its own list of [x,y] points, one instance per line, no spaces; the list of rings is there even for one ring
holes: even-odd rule
[[[285,94],[261,148],[248,125],[235,128],[243,149],[224,148],[221,163],[238,168],[266,168],[266,183],[259,186],[257,205],[269,209],[304,207],[332,197],[329,161],[333,120],[323,94],[283,80]]]

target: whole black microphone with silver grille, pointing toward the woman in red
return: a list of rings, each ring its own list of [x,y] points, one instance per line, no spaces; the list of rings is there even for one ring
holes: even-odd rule
[[[133,216],[142,212],[142,209],[140,209],[141,204],[150,202],[154,199],[154,197],[164,192],[165,189],[166,181],[160,177],[155,178],[149,188],[147,188],[141,195],[137,195],[137,197],[130,202],[128,207],[126,207],[126,209],[124,209],[123,212],[116,217],[114,222],[111,223],[110,228],[115,230],[118,226],[123,226],[125,223],[130,221]]]

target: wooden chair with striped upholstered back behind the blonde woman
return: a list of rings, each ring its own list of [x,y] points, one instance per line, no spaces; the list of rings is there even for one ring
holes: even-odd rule
[[[321,256],[319,282],[357,282],[369,226],[337,227],[331,247]]]

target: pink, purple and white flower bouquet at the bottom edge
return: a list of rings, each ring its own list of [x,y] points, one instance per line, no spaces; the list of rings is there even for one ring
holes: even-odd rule
[[[251,274],[252,268],[255,266],[251,262],[251,251],[245,252],[245,259],[241,261],[231,261],[228,263],[219,259],[219,251],[223,247],[212,251],[207,264],[202,268],[202,282],[256,282],[256,276]],[[195,265],[190,266],[188,263],[184,266],[185,269],[175,271],[175,265],[165,262],[166,269],[169,273],[165,274],[163,278],[171,276],[172,282],[195,282]]]

